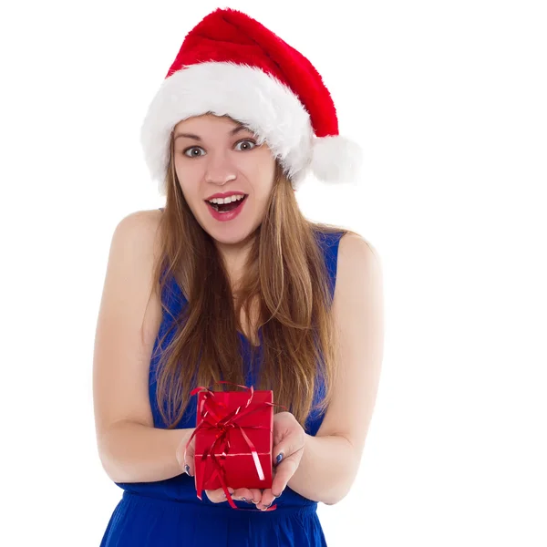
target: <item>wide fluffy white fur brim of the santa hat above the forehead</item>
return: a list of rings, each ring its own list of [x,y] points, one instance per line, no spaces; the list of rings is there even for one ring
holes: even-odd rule
[[[144,158],[161,194],[166,193],[172,129],[182,119],[206,112],[237,119],[257,135],[260,143],[265,140],[284,165],[294,189],[303,180],[312,155],[315,163],[324,167],[313,150],[316,144],[309,114],[290,88],[257,67],[206,62],[167,77],[142,123]],[[323,148],[319,145],[320,153]],[[333,160],[330,152],[328,157]]]

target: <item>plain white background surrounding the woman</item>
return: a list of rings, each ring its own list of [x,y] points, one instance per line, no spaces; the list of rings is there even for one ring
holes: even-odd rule
[[[321,5],[230,7],[312,60],[365,150],[358,189],[297,195],[385,276],[377,407],[353,490],[319,507],[328,545],[544,546],[544,3]],[[140,123],[223,6],[2,5],[2,545],[98,546],[119,501],[91,391],[110,238],[163,205]]]

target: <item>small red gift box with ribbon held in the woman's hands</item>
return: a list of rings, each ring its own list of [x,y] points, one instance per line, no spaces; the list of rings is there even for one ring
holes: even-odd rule
[[[229,382],[222,382],[229,383]],[[244,387],[244,386],[241,386]],[[271,390],[212,391],[197,387],[195,482],[202,490],[272,487],[274,403]],[[191,439],[189,440],[190,443]]]

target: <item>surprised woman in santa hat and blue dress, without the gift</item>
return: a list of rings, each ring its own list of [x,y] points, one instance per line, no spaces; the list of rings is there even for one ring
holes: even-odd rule
[[[376,400],[381,273],[366,240],[307,221],[294,191],[309,170],[349,180],[358,147],[311,63],[231,9],[185,37],[141,138],[166,206],[119,222],[108,258],[94,406],[124,493],[101,545],[325,545],[317,503],[346,496]],[[194,483],[191,389],[219,380],[285,408],[272,488],[227,485],[237,510]]]

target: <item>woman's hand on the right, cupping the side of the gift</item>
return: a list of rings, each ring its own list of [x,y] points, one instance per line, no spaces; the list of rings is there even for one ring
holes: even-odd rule
[[[272,464],[274,480],[272,488],[263,490],[257,509],[265,510],[279,498],[300,465],[304,454],[304,428],[296,421],[291,412],[274,414],[274,451]]]

